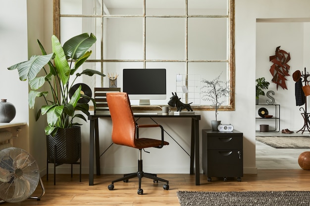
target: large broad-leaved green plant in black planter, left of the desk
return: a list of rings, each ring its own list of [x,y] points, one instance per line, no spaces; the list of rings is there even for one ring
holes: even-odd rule
[[[89,115],[88,103],[79,103],[80,98],[94,99],[84,95],[82,86],[72,90],[75,80],[81,75],[105,76],[96,70],[85,69],[78,73],[78,69],[92,54],[88,49],[96,42],[93,34],[81,34],[66,41],[61,46],[56,36],[52,36],[52,53],[47,54],[38,40],[42,55],[34,55],[28,61],[20,62],[9,67],[9,70],[18,70],[21,81],[29,81],[29,107],[34,108],[37,97],[43,97],[43,105],[37,113],[36,120],[41,115],[47,115],[48,161],[62,164],[72,164],[80,157],[81,124],[74,122],[77,119],[86,121],[83,113]],[[53,61],[53,63],[52,63]],[[48,69],[49,68],[49,69]],[[39,73],[41,70],[44,74]],[[71,78],[72,77],[72,78]],[[70,80],[71,78],[71,80]],[[50,85],[49,91],[39,91],[45,83]],[[76,88],[74,86],[73,88]],[[88,101],[87,101],[88,102]],[[94,105],[95,102],[94,102]],[[79,111],[79,113],[76,113]],[[57,154],[54,154],[56,153]],[[56,157],[56,159],[55,159]]]

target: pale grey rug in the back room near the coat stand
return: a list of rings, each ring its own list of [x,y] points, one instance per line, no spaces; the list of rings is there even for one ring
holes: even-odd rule
[[[294,136],[257,136],[256,140],[269,145],[273,148],[292,148],[308,149],[310,148],[310,137]]]

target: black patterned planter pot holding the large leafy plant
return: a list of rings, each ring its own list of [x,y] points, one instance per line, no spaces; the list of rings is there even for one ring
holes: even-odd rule
[[[81,155],[81,127],[59,128],[53,137],[47,135],[49,163],[74,164]]]

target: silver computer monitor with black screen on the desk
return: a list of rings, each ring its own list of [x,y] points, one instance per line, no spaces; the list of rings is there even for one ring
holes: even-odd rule
[[[123,92],[139,105],[166,99],[166,69],[123,69]]]

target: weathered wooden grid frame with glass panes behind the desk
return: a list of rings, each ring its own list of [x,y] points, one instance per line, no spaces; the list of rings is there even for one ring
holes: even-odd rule
[[[60,39],[61,35],[60,35],[60,19],[61,17],[99,17],[98,15],[81,15],[81,14],[61,14],[60,12],[60,1],[61,0],[53,0],[53,33]],[[146,0],[141,0],[144,2],[144,8],[145,8],[145,4],[146,4]],[[185,0],[186,2],[186,9],[187,9],[187,5],[188,5],[188,0]],[[226,71],[227,73],[227,80],[230,83],[230,89],[231,89],[231,93],[227,99],[227,104],[226,105],[222,105],[220,106],[219,110],[221,111],[233,111],[235,110],[235,15],[234,15],[234,11],[235,11],[235,0],[227,0],[227,9],[228,9],[228,13],[227,15],[188,15],[188,13],[186,13],[185,21],[188,21],[189,17],[213,17],[213,18],[220,18],[220,17],[224,17],[227,18],[227,59],[226,60],[189,60],[187,57],[187,45],[186,45],[186,59],[185,60],[180,60],[180,62],[185,62],[186,64],[186,68],[185,70],[188,72],[187,67],[188,64],[191,63],[226,63],[228,65],[228,70]],[[101,15],[101,18],[104,18],[104,16],[106,17],[107,15]],[[126,15],[128,16],[128,15]],[[136,15],[135,15],[136,16]],[[144,9],[144,13],[142,15],[142,17],[146,18],[146,12]],[[168,16],[166,15],[165,17],[173,17],[173,16]],[[188,28],[186,26],[186,32],[187,32]],[[187,33],[186,33],[187,34]],[[101,39],[101,42],[103,42],[103,38]],[[187,39],[186,39],[186,43],[187,43]],[[103,46],[102,46],[103,49]],[[145,49],[145,48],[144,48]],[[103,50],[102,50],[103,51]],[[102,66],[102,72],[103,70],[103,66],[105,63],[110,63],[110,62],[123,62],[126,60],[111,60],[111,59],[95,59],[95,60],[90,60],[90,62],[97,62]],[[165,60],[163,60],[165,61]],[[146,63],[148,62],[148,60],[146,59],[146,55],[144,53],[144,59],[142,60],[143,64],[144,64],[144,68],[146,67]],[[149,61],[152,62],[152,61]],[[103,87],[103,79],[101,80],[101,86]],[[169,95],[170,92],[167,91],[167,95]],[[187,103],[187,102],[184,102]],[[194,110],[201,110],[201,111],[208,111],[208,110],[214,110],[214,108],[212,108],[210,105],[194,105],[192,106],[192,108]],[[148,108],[150,109],[150,108]]]

